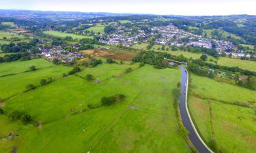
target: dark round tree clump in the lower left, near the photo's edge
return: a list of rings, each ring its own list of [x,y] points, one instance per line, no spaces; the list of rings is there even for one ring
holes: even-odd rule
[[[12,121],[16,121],[16,120],[20,120],[21,122],[23,122],[24,124],[27,124],[29,122],[32,121],[32,118],[30,115],[28,114],[25,114],[23,112],[19,112],[19,111],[14,111],[14,112],[11,112],[9,115],[8,115],[8,118]]]

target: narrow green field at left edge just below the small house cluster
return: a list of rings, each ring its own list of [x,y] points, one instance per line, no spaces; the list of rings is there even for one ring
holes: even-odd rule
[[[29,67],[35,66],[37,69],[53,66],[53,63],[42,58],[29,61],[14,61],[10,63],[0,64],[0,76],[10,75],[15,73],[22,73],[29,70]]]

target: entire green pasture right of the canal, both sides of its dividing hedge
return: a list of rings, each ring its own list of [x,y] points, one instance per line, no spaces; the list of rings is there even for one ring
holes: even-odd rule
[[[255,91],[196,75],[191,85],[188,105],[203,139],[209,143],[213,138],[221,152],[255,152],[255,110],[229,104],[255,105]]]

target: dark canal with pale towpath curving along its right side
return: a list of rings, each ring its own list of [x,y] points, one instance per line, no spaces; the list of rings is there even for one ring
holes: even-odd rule
[[[184,67],[180,65],[180,69],[182,70],[182,91],[180,95],[180,114],[182,116],[182,122],[186,129],[189,131],[189,138],[192,141],[195,148],[200,153],[213,153],[208,146],[203,142],[199,134],[197,133],[197,129],[193,124],[193,121],[190,118],[190,114],[188,112],[188,107],[186,103],[186,96],[187,96],[187,86],[188,86],[188,73]]]

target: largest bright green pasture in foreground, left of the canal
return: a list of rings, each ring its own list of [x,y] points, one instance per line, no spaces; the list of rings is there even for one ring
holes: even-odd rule
[[[40,130],[21,128],[10,143],[18,152],[191,152],[173,108],[171,90],[179,81],[179,70],[150,65],[100,84],[74,75],[62,78],[6,101],[6,112],[18,109],[42,121]],[[126,100],[81,112],[117,93]]]

